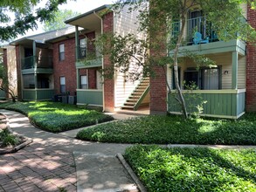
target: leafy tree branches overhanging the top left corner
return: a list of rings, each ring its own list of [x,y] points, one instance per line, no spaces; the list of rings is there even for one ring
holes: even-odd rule
[[[36,29],[37,21],[43,23],[51,21],[58,5],[66,3],[66,0],[48,0],[45,8],[33,8],[40,0],[1,0],[0,2],[0,41],[17,38],[26,31]],[[14,18],[12,21],[11,15]],[[10,24],[13,22],[13,24]]]

